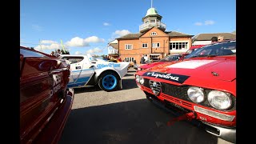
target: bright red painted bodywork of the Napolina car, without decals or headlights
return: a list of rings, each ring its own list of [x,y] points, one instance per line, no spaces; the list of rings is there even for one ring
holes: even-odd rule
[[[198,66],[193,69],[183,68],[183,67],[182,68],[166,67],[166,66],[171,66],[175,63],[178,64],[179,62],[194,62],[194,61],[202,62],[205,60],[206,61],[210,60],[212,62],[202,66]],[[211,74],[212,71],[218,73],[219,75],[214,76],[213,74]],[[178,62],[165,62],[162,65],[154,66],[147,70],[138,71],[135,74],[135,76],[145,74],[146,72],[161,72],[165,74],[181,74],[181,75],[190,76],[190,78],[186,79],[186,81],[183,82],[182,84],[178,82],[168,81],[161,78],[152,78],[148,76],[143,76],[143,78],[147,78],[157,82],[170,83],[176,86],[198,86],[198,87],[202,87],[210,90],[221,90],[221,91],[225,91],[230,94],[233,94],[234,97],[236,97],[236,56],[235,55],[216,56],[216,57],[209,57],[209,58],[207,57],[186,58]],[[137,84],[140,85],[138,82]],[[143,91],[146,91],[150,94],[154,94],[150,88],[142,85],[140,85],[140,87]],[[215,123],[223,126],[236,126],[236,110],[235,109],[234,110],[217,110],[214,108],[199,105],[198,103],[188,102],[180,98],[175,98],[171,95],[167,96],[166,94],[162,94],[162,93],[160,93],[157,98],[161,101],[166,100],[166,101],[175,103],[178,106],[185,107],[186,109],[189,109],[192,111],[194,111],[194,106],[200,106],[208,110],[218,111],[218,113],[234,115],[235,117],[232,122],[226,122],[218,118],[213,118],[205,114],[200,114],[196,112],[197,113],[196,119],[202,121],[202,119],[200,119],[200,116],[201,116],[203,118],[206,118],[206,122]],[[189,103],[191,106],[184,105],[182,104],[182,102]]]

